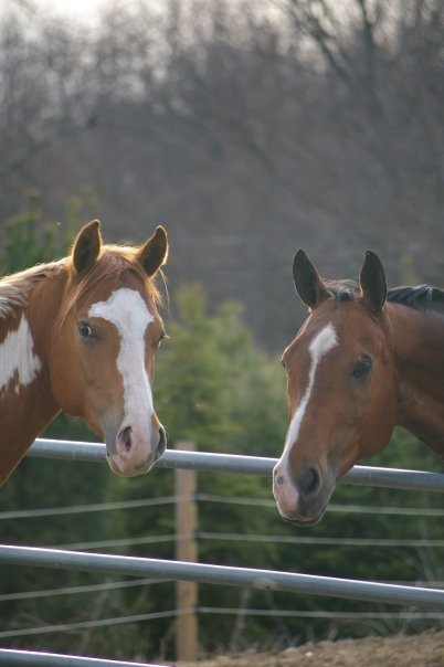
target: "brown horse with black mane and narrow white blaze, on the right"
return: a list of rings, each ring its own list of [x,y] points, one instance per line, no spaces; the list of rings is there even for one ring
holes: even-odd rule
[[[395,425],[444,458],[444,293],[388,290],[371,252],[359,282],[323,280],[303,251],[293,276],[310,314],[283,356],[290,424],[273,488],[281,515],[308,526]]]

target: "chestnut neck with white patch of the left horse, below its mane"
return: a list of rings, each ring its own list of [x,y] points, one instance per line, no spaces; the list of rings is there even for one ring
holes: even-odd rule
[[[0,319],[0,484],[59,412],[46,364],[50,313],[56,300],[50,308],[45,304],[51,299],[42,292],[53,279],[42,278],[23,309]]]

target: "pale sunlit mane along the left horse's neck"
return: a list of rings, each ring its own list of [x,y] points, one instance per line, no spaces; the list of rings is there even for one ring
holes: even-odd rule
[[[61,265],[62,262],[38,264],[0,278],[0,319],[23,308],[36,283],[60,271]]]

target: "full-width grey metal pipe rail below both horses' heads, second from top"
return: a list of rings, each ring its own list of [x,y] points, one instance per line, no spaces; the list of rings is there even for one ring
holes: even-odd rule
[[[0,546],[0,563],[102,572],[104,574],[124,576],[152,576],[158,579],[198,581],[200,583],[250,586],[289,593],[444,610],[444,591],[440,591],[438,589],[355,581],[295,572],[275,572],[273,570],[253,570],[249,568],[231,568],[183,561],[4,544]]]

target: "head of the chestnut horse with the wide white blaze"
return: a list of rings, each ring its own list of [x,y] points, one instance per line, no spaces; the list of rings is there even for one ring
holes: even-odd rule
[[[165,336],[152,277],[168,253],[158,226],[135,247],[102,244],[99,223],[78,234],[50,350],[54,398],[106,442],[110,468],[146,473],[166,435],[152,404],[154,358]]]

